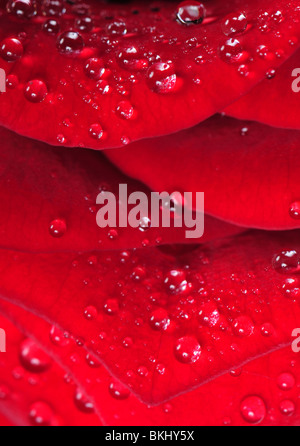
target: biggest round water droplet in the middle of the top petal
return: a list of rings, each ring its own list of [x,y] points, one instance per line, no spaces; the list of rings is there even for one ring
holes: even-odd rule
[[[177,76],[171,62],[157,62],[147,71],[147,84],[154,93],[172,93],[176,88]]]

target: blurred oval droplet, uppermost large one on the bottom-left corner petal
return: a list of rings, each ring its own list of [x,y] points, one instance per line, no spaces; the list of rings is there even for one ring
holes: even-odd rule
[[[34,341],[26,339],[20,347],[20,361],[32,373],[42,373],[51,365],[49,356]]]

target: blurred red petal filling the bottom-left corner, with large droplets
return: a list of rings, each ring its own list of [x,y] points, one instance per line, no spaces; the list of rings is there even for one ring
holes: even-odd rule
[[[28,362],[20,361],[29,339],[2,316],[0,326],[7,339],[0,361],[0,411],[5,418],[19,426],[101,425],[94,411],[87,414],[76,407],[77,386],[71,377],[67,383],[64,369],[48,357],[47,369],[33,370],[30,361],[34,364],[46,353],[30,341]]]

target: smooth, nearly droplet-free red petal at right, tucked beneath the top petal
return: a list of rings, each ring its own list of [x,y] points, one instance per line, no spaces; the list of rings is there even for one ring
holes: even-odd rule
[[[215,116],[106,155],[153,190],[204,192],[205,211],[228,222],[299,228],[298,131]]]

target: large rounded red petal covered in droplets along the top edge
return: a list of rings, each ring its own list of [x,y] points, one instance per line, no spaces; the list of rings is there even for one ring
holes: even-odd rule
[[[196,24],[188,16],[183,24],[174,2],[151,9],[90,0],[26,10],[4,3],[0,68],[8,77],[0,123],[53,145],[120,147],[193,126],[299,46],[295,0],[263,7],[260,0],[214,0]],[[259,57],[262,45],[273,58]]]

